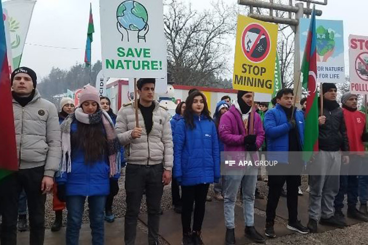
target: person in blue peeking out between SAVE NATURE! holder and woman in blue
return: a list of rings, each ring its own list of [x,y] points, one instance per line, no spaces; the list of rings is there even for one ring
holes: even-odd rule
[[[185,101],[182,101],[178,104],[177,108],[175,109],[176,114],[170,120],[173,139],[174,139],[174,134],[175,134],[175,126],[177,125],[179,120],[183,118],[184,110],[185,110]],[[171,197],[173,198],[174,211],[178,214],[181,214],[182,213],[182,199],[180,198],[179,184],[175,178],[173,178],[171,181]]]

